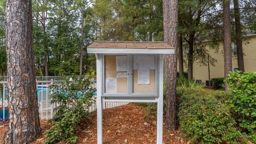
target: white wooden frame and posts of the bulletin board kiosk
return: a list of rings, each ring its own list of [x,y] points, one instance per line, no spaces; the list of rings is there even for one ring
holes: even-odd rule
[[[101,42],[97,41],[96,43]],[[106,43],[106,42],[101,42]],[[111,42],[110,42],[111,43]],[[116,43],[116,42],[115,42]],[[121,42],[122,43],[122,42]],[[142,42],[137,42],[142,43]],[[163,43],[163,42],[161,42]],[[154,44],[154,43],[153,43]],[[117,45],[118,46],[118,45]],[[106,49],[107,48],[107,49]],[[97,65],[97,143],[102,144],[102,103],[103,102],[156,102],[157,103],[157,144],[162,144],[163,142],[163,90],[164,90],[164,54],[174,54],[174,49],[170,47],[169,49],[158,47],[157,49],[120,49],[111,47],[94,46],[91,44],[87,48],[88,53],[94,53],[96,57]],[[143,94],[143,99],[141,95],[120,95],[120,97],[113,98],[109,97],[103,93],[103,87],[105,87],[104,82],[105,77],[103,77],[102,71],[104,71],[104,55],[130,55],[130,54],[154,54],[157,58],[157,65],[155,65],[156,70],[155,77],[156,90],[154,95],[148,95],[148,93]],[[132,62],[131,58],[128,63]],[[131,66],[131,65],[130,65]],[[127,79],[128,81],[128,79]],[[130,87],[128,85],[128,87]],[[131,87],[129,88],[131,89]],[[127,89],[127,90],[129,90]],[[113,96],[113,95],[111,95]],[[121,98],[122,97],[122,98]]]

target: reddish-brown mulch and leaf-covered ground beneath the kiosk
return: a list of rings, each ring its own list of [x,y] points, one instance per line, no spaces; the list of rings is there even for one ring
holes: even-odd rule
[[[145,120],[145,109],[134,105],[119,106],[103,110],[103,143],[156,143],[156,119]],[[42,132],[51,124],[41,121]],[[165,127],[165,126],[164,126]],[[3,139],[5,127],[0,127],[0,138]],[[84,119],[77,129],[77,143],[97,143],[97,116],[93,113],[90,121]],[[0,139],[0,140],[1,140]],[[45,136],[34,143],[44,143]],[[167,132],[164,129],[163,141],[167,143],[186,143],[179,131]],[[65,142],[60,142],[65,143]]]

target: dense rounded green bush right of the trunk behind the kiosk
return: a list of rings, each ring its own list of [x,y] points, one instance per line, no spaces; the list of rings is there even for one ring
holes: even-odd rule
[[[195,143],[239,143],[243,135],[236,130],[229,107],[218,100],[226,99],[226,93],[179,87],[177,94],[180,131],[184,137]]]

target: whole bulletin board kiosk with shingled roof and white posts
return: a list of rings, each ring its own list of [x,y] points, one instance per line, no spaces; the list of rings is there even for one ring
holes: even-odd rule
[[[103,102],[157,102],[157,143],[163,135],[163,59],[174,54],[164,42],[94,41],[97,59],[97,138],[102,144]]]

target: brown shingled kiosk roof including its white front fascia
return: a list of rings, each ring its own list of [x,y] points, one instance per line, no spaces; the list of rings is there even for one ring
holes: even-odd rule
[[[164,42],[113,42],[94,41],[87,47],[88,53],[140,53],[174,54],[174,48]]]

